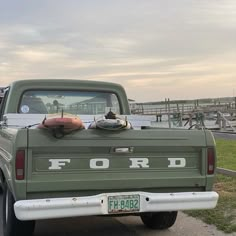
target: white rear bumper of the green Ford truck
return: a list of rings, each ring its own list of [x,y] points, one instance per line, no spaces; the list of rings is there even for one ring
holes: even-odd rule
[[[108,196],[140,195],[140,212],[211,209],[218,201],[216,192],[103,193],[88,197],[21,200],[14,204],[19,220],[40,220],[74,216],[107,215]]]

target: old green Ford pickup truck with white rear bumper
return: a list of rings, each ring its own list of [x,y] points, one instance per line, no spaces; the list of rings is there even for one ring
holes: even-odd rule
[[[64,116],[81,127],[45,122]],[[137,215],[166,229],[180,210],[217,204],[211,132],[152,128],[130,114],[118,84],[16,81],[4,89],[0,120],[4,236],[32,235],[36,220],[93,215]]]

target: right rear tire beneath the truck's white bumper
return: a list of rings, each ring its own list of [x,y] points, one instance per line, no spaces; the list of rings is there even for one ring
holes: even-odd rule
[[[147,212],[141,214],[144,225],[150,229],[168,229],[174,225],[177,211],[171,212]]]

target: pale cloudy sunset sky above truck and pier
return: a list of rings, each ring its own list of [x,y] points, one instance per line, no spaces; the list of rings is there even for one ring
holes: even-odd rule
[[[137,102],[236,96],[236,1],[0,0],[0,86],[49,78]]]

